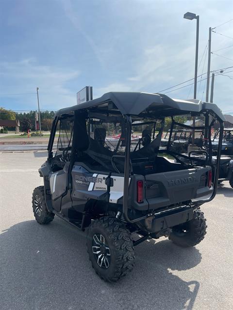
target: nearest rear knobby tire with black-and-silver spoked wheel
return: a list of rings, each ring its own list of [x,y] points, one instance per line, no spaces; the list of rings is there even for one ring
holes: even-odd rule
[[[114,282],[128,274],[134,265],[134,247],[125,224],[114,217],[92,221],[87,234],[87,252],[101,279]]]

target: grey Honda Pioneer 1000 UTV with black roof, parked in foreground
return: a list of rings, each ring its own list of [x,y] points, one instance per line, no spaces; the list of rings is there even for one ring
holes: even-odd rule
[[[165,117],[172,119],[171,140],[174,125],[180,125],[174,115],[201,114],[210,143],[211,127],[220,124],[215,166],[211,154],[194,164],[191,153],[183,163],[169,147],[159,150]],[[200,206],[216,195],[223,121],[215,104],[153,93],[106,93],[59,110],[39,169],[44,186],[33,191],[35,219],[48,224],[56,215],[86,229],[89,259],[106,281],[133,268],[134,247],[144,240],[166,236],[182,247],[197,245],[206,233]],[[132,133],[140,137],[137,143],[131,143]]]

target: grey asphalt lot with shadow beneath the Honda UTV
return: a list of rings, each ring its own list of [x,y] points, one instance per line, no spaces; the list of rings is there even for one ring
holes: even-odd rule
[[[0,153],[0,310],[233,309],[233,189],[203,205],[208,222],[196,248],[166,238],[136,247],[132,273],[103,282],[91,268],[85,233],[33,218],[33,188],[46,152]]]

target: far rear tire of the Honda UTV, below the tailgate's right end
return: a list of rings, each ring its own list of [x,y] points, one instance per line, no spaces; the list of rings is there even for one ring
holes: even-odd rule
[[[197,208],[192,220],[172,227],[169,239],[183,248],[194,247],[204,239],[206,228],[204,214]]]

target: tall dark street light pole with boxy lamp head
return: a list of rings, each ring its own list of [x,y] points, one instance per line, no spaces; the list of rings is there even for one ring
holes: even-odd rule
[[[191,12],[187,12],[183,15],[183,18],[193,20],[197,19],[197,30],[196,30],[196,54],[195,54],[195,74],[194,74],[194,94],[193,98],[197,99],[197,82],[198,82],[198,45],[199,45],[199,15]],[[192,134],[192,145],[194,145],[195,139],[195,117],[193,116],[193,134]]]

